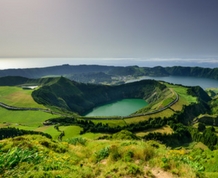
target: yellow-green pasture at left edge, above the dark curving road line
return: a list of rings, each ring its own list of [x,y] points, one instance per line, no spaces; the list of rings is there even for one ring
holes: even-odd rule
[[[1,86],[0,102],[17,107],[45,108],[45,106],[33,100],[32,92],[33,90],[22,89],[21,87]]]

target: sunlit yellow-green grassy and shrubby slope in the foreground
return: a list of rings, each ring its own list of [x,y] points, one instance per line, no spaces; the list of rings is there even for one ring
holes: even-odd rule
[[[202,152],[169,150],[155,141],[74,138],[55,142],[28,135],[1,140],[0,148],[3,177],[195,178],[203,177],[205,169],[196,159]]]

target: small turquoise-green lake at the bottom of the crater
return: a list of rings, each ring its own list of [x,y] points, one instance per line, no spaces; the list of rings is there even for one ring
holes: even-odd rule
[[[146,105],[143,99],[123,99],[95,108],[86,116],[127,116]]]

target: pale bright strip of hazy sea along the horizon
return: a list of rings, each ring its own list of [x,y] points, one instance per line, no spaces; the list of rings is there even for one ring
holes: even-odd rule
[[[0,58],[0,69],[37,68],[55,65],[108,65],[139,67],[218,67],[218,60],[182,60],[182,59],[140,59],[140,58]]]

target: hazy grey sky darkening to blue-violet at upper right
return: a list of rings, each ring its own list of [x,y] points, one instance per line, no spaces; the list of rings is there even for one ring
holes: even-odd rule
[[[32,57],[216,63],[218,0],[0,0],[1,67]]]

